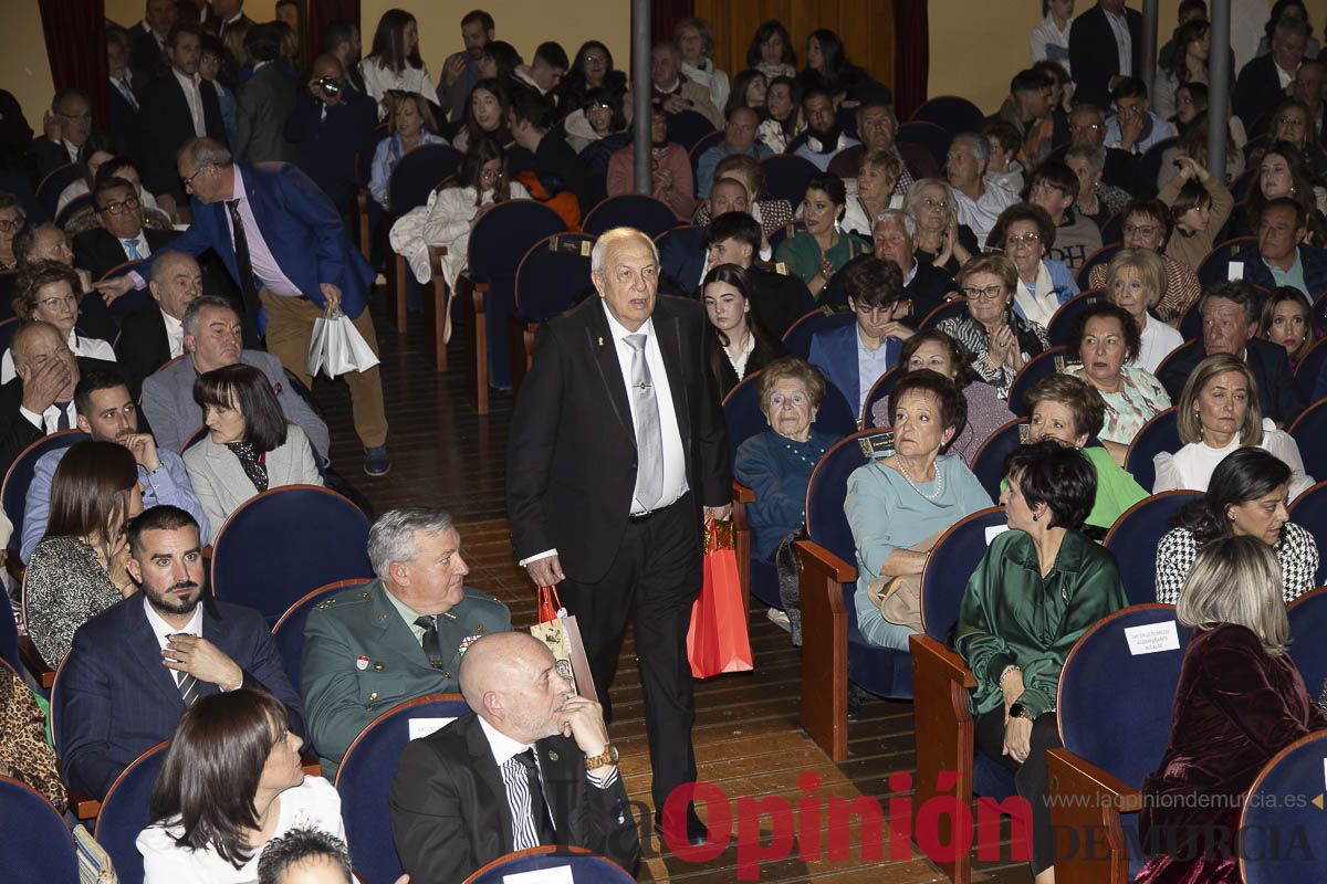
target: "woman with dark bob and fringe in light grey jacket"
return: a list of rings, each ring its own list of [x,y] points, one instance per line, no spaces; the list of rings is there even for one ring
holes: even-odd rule
[[[194,380],[207,433],[184,452],[184,468],[207,516],[211,543],[240,504],[283,485],[321,485],[309,440],[287,424],[267,376],[238,363]]]

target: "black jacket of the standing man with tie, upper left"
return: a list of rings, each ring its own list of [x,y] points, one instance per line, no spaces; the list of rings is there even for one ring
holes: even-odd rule
[[[222,122],[222,105],[212,83],[199,83],[203,95],[203,125],[207,137],[226,143],[226,125]],[[184,200],[184,188],[179,183],[175,154],[195,138],[194,118],[188,113],[188,99],[175,74],[167,70],[143,90],[138,114],[142,130],[142,156],[138,172],[143,187],[154,195],[170,193],[176,201]]]

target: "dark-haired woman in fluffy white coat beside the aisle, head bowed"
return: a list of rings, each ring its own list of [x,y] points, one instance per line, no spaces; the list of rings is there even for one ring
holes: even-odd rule
[[[421,284],[433,278],[429,247],[446,247],[442,276],[447,286],[456,288],[456,277],[466,269],[470,232],[484,213],[510,199],[529,199],[520,182],[507,178],[506,152],[491,138],[470,146],[453,187],[435,190],[429,201],[413,208],[391,225],[391,248],[402,254]]]

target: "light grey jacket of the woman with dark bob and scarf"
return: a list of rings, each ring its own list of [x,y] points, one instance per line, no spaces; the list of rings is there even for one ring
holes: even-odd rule
[[[321,485],[313,451],[304,431],[296,425],[287,427],[285,444],[267,452],[268,490],[283,485]],[[240,460],[226,445],[218,445],[211,436],[184,452],[184,468],[194,486],[198,502],[203,505],[210,529],[208,543],[226,524],[226,518],[239,509],[244,501],[255,497],[257,490],[240,467]]]

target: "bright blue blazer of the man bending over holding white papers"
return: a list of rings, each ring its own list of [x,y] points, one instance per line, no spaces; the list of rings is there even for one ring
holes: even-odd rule
[[[236,163],[235,171],[244,182],[253,217],[281,272],[318,309],[326,306],[318,284],[336,285],[341,289],[341,311],[352,319],[358,317],[368,305],[373,268],[350,244],[341,216],[326,193],[289,163]],[[226,204],[206,204],[194,197],[190,205],[194,221],[171,243],[171,249],[194,256],[214,249],[238,284],[240,276]],[[155,252],[139,269],[145,280],[151,276],[158,254],[161,252]],[[261,288],[256,278],[255,286]]]

